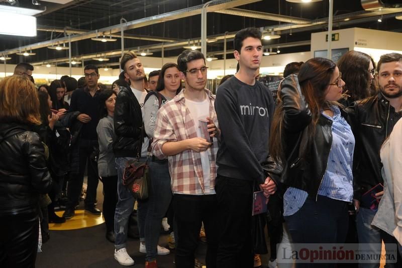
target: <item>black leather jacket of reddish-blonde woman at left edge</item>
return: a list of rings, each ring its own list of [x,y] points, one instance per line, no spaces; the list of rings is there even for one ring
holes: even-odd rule
[[[44,152],[27,125],[0,123],[0,215],[36,211],[52,184]]]

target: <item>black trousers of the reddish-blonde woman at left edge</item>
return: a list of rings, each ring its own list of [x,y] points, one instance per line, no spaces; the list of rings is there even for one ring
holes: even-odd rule
[[[37,211],[0,216],[0,267],[35,267],[38,238]]]

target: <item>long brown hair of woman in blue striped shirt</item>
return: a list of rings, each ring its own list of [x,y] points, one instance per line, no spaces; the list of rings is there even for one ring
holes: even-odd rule
[[[325,100],[328,84],[331,82],[336,64],[326,58],[312,58],[306,61],[297,74],[300,89],[312,113],[313,120],[307,128],[308,138],[311,141],[315,135],[315,128],[321,111],[329,106]],[[283,133],[283,103],[278,91],[277,106],[273,115],[269,135],[269,151],[278,163],[284,163],[285,144]]]

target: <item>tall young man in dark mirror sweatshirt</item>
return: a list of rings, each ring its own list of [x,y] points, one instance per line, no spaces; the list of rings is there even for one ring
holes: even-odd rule
[[[254,188],[260,187],[266,197],[276,191],[276,184],[262,167],[268,157],[275,104],[270,91],[255,79],[262,60],[261,37],[256,28],[236,33],[234,56],[240,68],[217,90],[215,107],[222,131],[216,178],[219,268],[253,267],[250,230]]]

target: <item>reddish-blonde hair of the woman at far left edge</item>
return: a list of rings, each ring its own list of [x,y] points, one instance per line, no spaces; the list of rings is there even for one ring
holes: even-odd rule
[[[0,121],[40,125],[38,91],[28,77],[12,75],[0,81]]]

